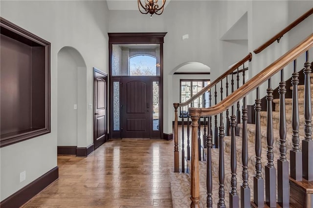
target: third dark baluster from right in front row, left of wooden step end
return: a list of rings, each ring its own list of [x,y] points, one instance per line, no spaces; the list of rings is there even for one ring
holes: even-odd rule
[[[286,82],[284,81],[284,69],[281,70],[279,83],[279,159],[277,160],[277,183],[278,183],[278,204],[282,207],[289,207],[289,162],[286,152]]]

